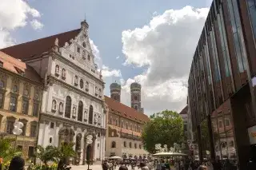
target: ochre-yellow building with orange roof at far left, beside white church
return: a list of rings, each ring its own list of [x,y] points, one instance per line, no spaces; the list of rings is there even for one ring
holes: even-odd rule
[[[17,147],[23,156],[33,156],[37,142],[42,82],[26,63],[0,52],[0,136],[13,135],[14,122],[23,123]]]

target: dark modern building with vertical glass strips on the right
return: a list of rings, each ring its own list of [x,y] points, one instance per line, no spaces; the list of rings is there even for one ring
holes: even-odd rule
[[[195,49],[189,111],[199,158],[256,154],[256,0],[214,0]]]

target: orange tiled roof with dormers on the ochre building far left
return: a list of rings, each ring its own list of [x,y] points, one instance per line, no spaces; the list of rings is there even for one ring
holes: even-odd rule
[[[39,74],[25,62],[11,57],[6,53],[0,51],[0,61],[2,62],[2,68],[7,69],[10,72],[17,73],[23,77],[30,79],[31,81],[42,82]]]

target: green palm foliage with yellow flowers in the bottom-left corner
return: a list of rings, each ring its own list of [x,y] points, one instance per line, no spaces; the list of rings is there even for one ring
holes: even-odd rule
[[[0,158],[2,158],[3,168],[6,168],[10,164],[10,160],[14,156],[21,156],[22,152],[12,146],[14,144],[14,138],[2,138],[0,139]]]

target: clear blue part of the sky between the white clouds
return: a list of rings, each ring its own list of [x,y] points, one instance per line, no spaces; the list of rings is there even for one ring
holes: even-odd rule
[[[5,0],[7,1],[7,0]],[[22,0],[18,0],[22,1]],[[90,38],[98,46],[103,65],[120,70],[122,79],[134,80],[137,75],[146,72],[148,65],[122,65],[126,61],[122,53],[122,32],[142,28],[156,15],[166,10],[180,10],[185,6],[200,9],[210,6],[210,0],[25,0],[31,8],[38,10],[42,22],[41,30],[34,30],[29,24],[10,29],[10,36],[16,43],[28,42],[52,34],[80,27],[85,18],[90,25]],[[0,19],[1,19],[0,8]],[[4,14],[4,13],[3,13]],[[26,20],[33,16],[27,14]],[[0,22],[1,29],[1,22]],[[0,34],[1,38],[1,34]],[[118,57],[116,59],[116,57]],[[120,77],[106,78],[106,89],[111,81],[120,81]],[[126,83],[125,83],[126,84]],[[108,90],[106,90],[108,95]],[[127,100],[128,101],[128,100]],[[171,108],[170,108],[171,109]]]

